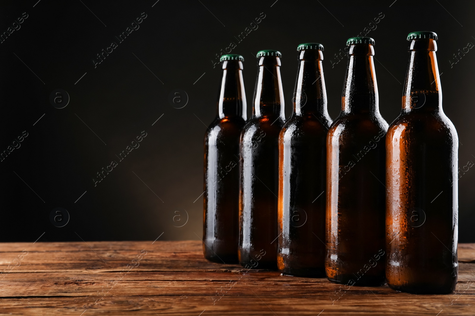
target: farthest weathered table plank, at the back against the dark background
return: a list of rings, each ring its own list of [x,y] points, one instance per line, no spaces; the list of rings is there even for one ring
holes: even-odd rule
[[[199,241],[186,242],[84,242],[81,243],[3,243],[0,244],[0,271],[15,265],[26,249],[28,254],[20,262],[22,272],[40,271],[120,271],[142,251],[147,254],[140,262],[148,271],[227,271],[226,265],[208,262]],[[71,245],[70,245],[71,244]],[[89,246],[91,247],[89,247]],[[28,247],[29,246],[29,247]],[[115,248],[114,248],[115,247]],[[92,248],[92,249],[91,249]],[[475,244],[459,246],[459,262],[475,263]],[[18,263],[17,263],[18,264]]]

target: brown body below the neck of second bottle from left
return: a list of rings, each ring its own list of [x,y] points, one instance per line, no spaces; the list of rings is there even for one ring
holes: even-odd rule
[[[276,268],[278,136],[284,121],[272,118],[273,125],[250,119],[241,136],[239,262],[253,268]]]

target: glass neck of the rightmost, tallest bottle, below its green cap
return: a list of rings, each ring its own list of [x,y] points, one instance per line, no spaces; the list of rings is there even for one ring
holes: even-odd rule
[[[437,66],[437,44],[430,38],[409,43],[409,62],[402,97],[406,112],[439,112],[442,90]]]

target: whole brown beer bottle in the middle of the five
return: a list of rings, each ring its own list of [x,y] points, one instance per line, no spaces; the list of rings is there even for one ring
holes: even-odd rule
[[[327,111],[323,45],[297,47],[294,112],[279,135],[278,269],[290,275],[325,276]]]

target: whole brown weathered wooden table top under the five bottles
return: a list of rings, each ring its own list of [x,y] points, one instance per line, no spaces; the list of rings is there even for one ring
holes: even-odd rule
[[[0,315],[475,315],[475,244],[458,249],[455,293],[411,295],[238,273],[200,241],[0,244]]]

